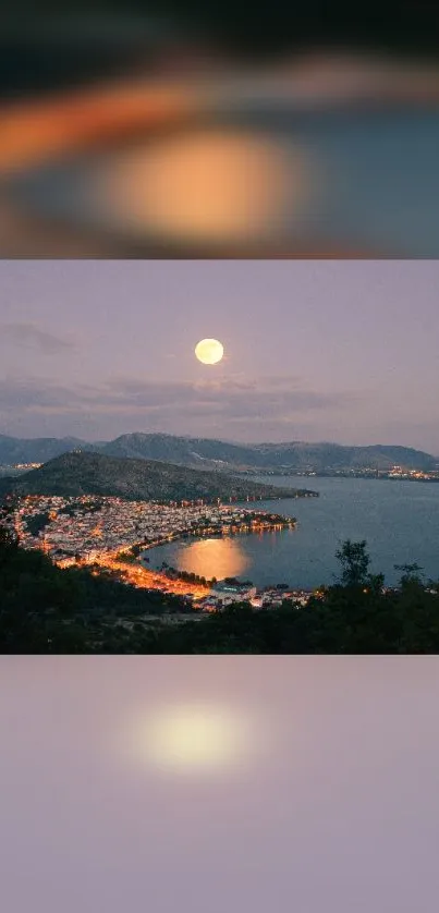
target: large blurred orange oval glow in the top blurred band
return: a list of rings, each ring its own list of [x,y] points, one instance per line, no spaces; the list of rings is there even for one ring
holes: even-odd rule
[[[210,130],[119,156],[93,192],[124,230],[230,243],[270,238],[309,195],[308,173],[297,150]]]

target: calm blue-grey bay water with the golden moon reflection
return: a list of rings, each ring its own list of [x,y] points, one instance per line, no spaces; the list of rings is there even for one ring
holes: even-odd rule
[[[310,589],[333,582],[336,551],[346,538],[366,539],[371,570],[397,583],[394,564],[417,562],[426,579],[439,580],[439,484],[366,478],[260,476],[281,487],[303,486],[318,498],[258,502],[258,508],[295,516],[297,527],[170,543],[148,551],[148,565],[162,561],[179,570],[221,580],[249,579],[257,586],[288,583]]]

